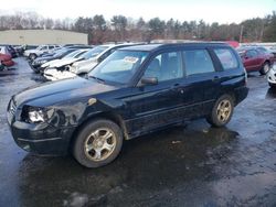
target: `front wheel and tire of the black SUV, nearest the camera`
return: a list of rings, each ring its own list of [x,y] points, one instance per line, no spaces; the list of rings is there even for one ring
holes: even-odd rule
[[[78,132],[73,155],[83,166],[95,168],[113,162],[121,145],[123,133],[116,123],[106,119],[93,120]]]

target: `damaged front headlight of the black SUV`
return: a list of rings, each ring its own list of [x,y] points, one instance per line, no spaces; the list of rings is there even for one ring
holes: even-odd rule
[[[54,109],[45,109],[40,107],[28,107],[28,121],[31,123],[46,122],[53,117]]]

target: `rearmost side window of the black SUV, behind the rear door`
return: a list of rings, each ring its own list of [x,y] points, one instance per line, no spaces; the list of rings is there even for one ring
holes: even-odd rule
[[[237,61],[233,52],[229,48],[215,48],[214,53],[219,57],[223,69],[233,69],[237,67]]]

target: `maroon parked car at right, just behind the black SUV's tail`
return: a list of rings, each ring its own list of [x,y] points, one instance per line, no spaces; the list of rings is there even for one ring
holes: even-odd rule
[[[274,64],[274,56],[257,47],[240,47],[237,52],[246,72],[259,72],[265,75]]]

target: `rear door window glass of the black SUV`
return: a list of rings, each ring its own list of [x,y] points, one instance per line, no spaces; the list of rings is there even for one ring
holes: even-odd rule
[[[184,51],[187,75],[214,72],[213,62],[206,50]]]

